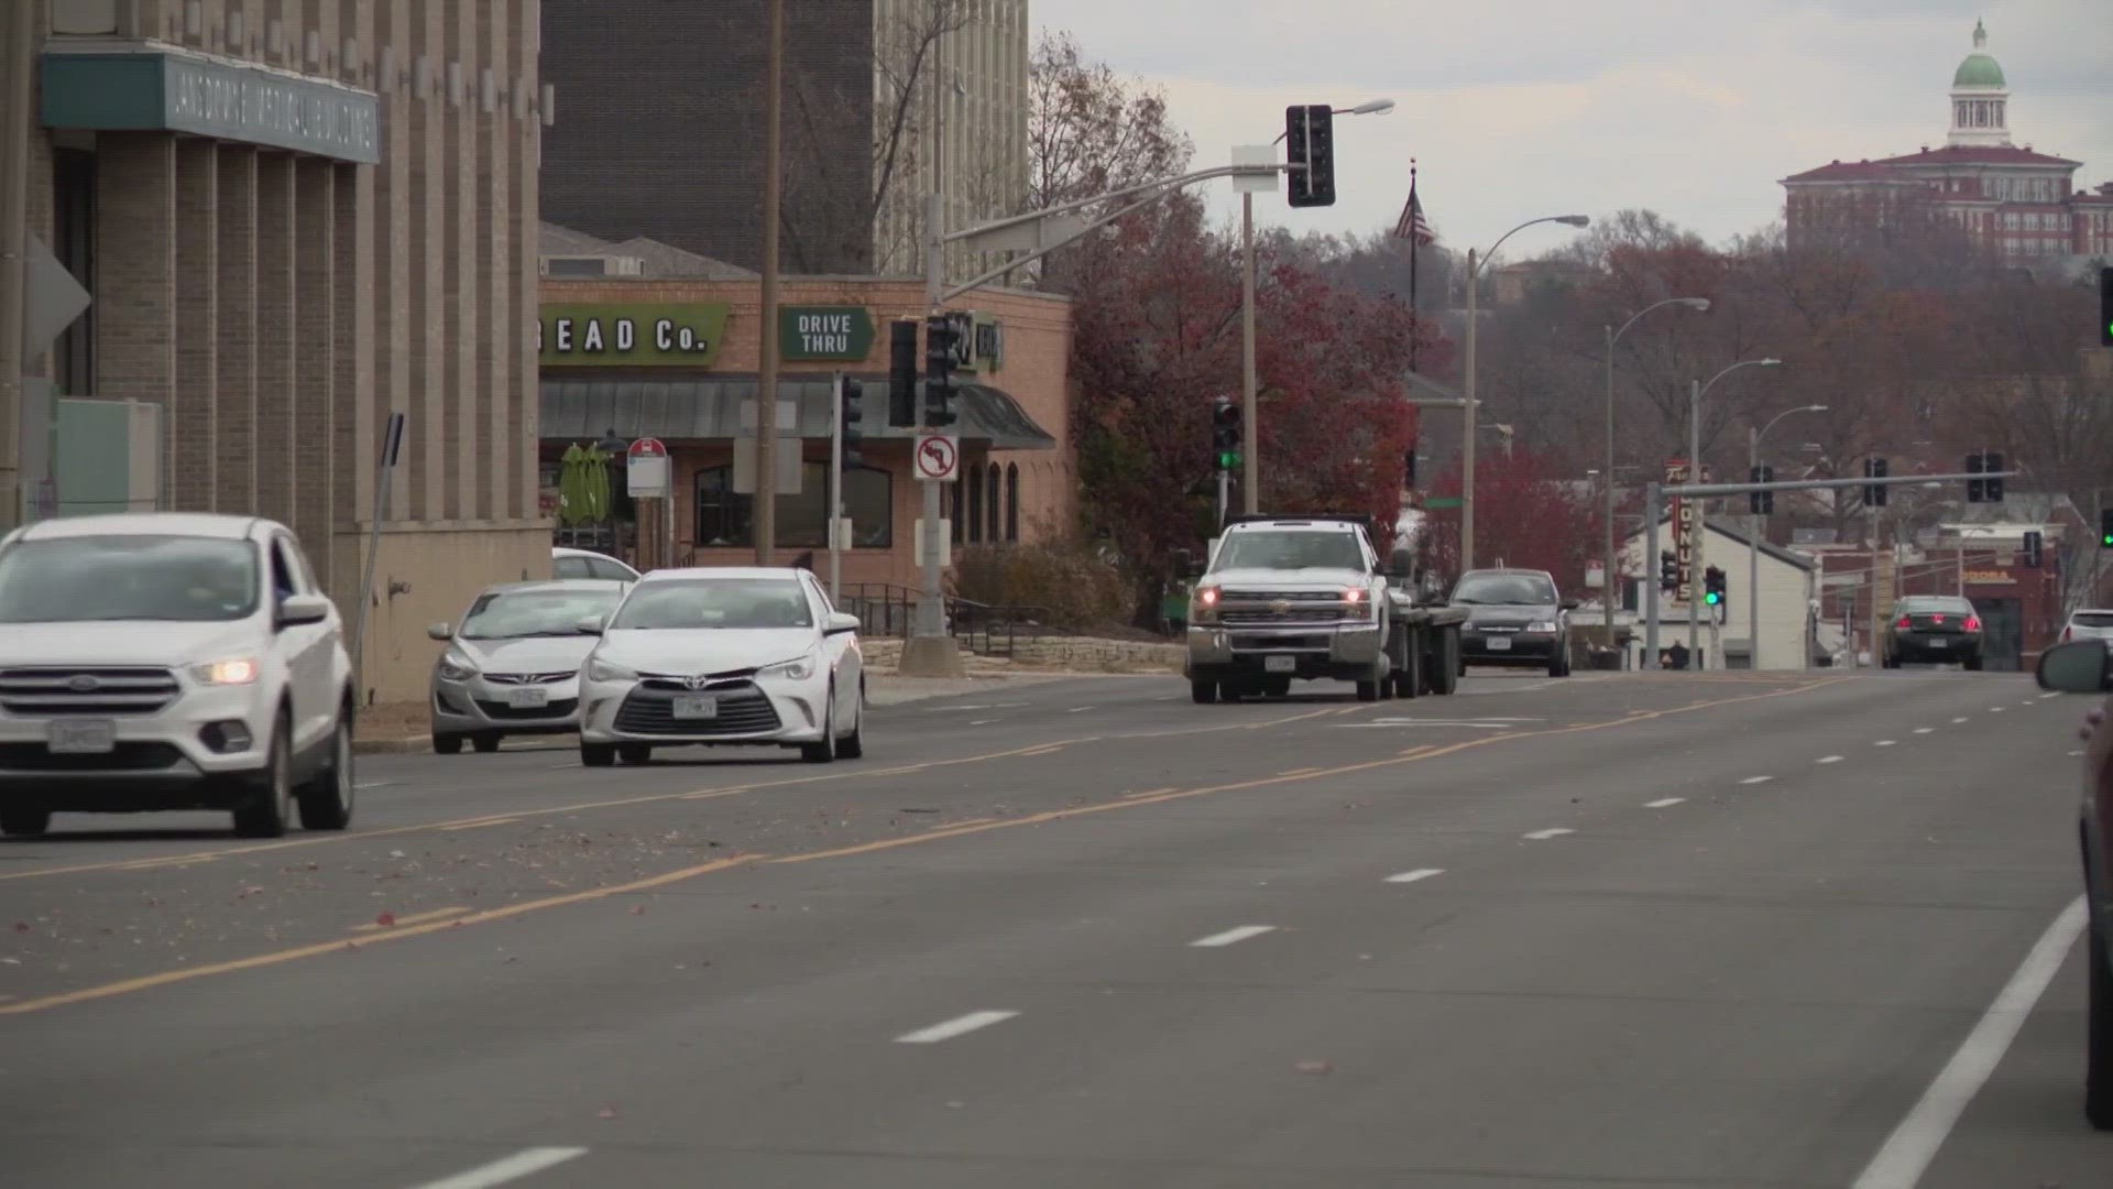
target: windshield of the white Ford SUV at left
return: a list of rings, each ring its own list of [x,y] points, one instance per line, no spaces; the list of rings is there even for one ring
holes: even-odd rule
[[[245,620],[258,550],[226,537],[55,537],[0,552],[0,624]]]

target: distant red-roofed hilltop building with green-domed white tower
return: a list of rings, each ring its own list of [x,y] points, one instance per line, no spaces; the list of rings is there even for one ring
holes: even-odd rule
[[[2113,182],[2088,190],[2081,167],[2012,142],[2009,80],[1976,21],[1944,144],[1783,178],[1785,231],[1792,248],[1824,248],[1942,220],[2018,264],[2079,264],[2113,256]]]

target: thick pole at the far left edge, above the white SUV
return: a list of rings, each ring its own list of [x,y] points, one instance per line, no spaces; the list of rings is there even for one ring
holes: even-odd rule
[[[0,93],[0,531],[23,520],[21,402],[30,288],[30,108],[42,4],[6,6],[6,91]]]

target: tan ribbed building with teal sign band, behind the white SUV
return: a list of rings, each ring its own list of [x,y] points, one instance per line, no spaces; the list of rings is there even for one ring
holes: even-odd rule
[[[42,374],[158,408],[152,504],[285,520],[347,616],[406,413],[363,669],[418,698],[425,622],[549,573],[537,2],[17,2],[32,231],[93,294]]]

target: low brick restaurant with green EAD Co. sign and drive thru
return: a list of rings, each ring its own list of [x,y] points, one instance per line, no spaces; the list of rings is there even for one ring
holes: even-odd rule
[[[917,584],[913,552],[919,482],[911,429],[887,425],[887,324],[919,317],[917,281],[790,277],[780,288],[778,400],[794,406],[780,449],[799,453],[801,493],[778,497],[778,561],[826,537],[826,468],[835,410],[830,377],[864,385],[864,465],[845,478],[852,548],[845,582]],[[964,480],[945,493],[957,544],[1035,542],[1076,520],[1078,474],[1069,444],[1069,300],[980,290],[959,303],[976,349],[957,374]],[[702,277],[543,281],[543,501],[556,512],[564,453],[575,444],[651,436],[674,472],[674,563],[746,565],[754,556],[752,504],[737,487],[742,404],[756,396],[761,345],[756,281]],[[659,330],[666,326],[666,336]],[[807,330],[803,330],[807,328]],[[687,339],[685,339],[687,332]],[[691,347],[685,349],[682,343]],[[628,345],[628,349],[625,349]],[[919,353],[919,366],[923,355]],[[790,444],[797,442],[797,444]],[[617,476],[611,484],[621,491]],[[619,518],[632,514],[619,499]],[[640,501],[636,535],[621,550],[661,565],[659,506]],[[583,542],[585,544],[585,542]]]

